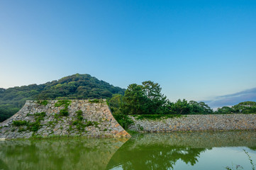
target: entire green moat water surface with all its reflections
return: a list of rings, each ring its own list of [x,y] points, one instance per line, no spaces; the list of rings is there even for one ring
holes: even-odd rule
[[[256,164],[256,132],[0,142],[1,169],[225,169]],[[256,165],[254,165],[256,167]]]

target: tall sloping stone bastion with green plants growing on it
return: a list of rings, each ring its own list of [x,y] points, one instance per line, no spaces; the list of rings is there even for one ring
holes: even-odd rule
[[[0,123],[0,138],[50,136],[126,137],[129,134],[113,118],[106,100],[26,101],[18,113]]]

